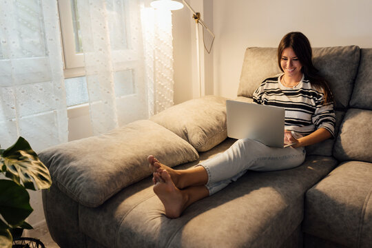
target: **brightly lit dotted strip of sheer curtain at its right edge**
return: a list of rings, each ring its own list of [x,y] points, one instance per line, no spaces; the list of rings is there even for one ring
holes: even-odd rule
[[[171,107],[174,96],[172,12],[143,8],[149,116]]]

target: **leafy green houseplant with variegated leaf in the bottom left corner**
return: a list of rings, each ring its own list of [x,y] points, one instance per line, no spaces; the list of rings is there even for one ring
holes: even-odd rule
[[[0,247],[12,247],[12,234],[32,229],[25,222],[31,212],[26,189],[48,189],[52,179],[30,144],[19,137],[8,149],[0,149]],[[4,178],[5,176],[5,178]]]

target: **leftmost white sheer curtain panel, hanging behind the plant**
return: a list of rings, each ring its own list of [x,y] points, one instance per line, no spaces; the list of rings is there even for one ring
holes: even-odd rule
[[[68,140],[56,0],[0,1],[0,144]]]

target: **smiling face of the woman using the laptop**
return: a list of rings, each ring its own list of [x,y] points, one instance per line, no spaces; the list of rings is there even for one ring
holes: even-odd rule
[[[282,66],[282,70],[287,76],[293,76],[296,79],[302,77],[302,64],[292,48],[285,48],[283,50],[282,57],[280,58],[280,66]]]

